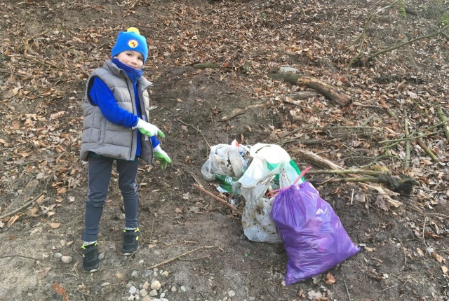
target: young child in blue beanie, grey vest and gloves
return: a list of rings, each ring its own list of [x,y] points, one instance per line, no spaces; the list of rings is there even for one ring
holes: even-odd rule
[[[170,158],[156,135],[163,132],[149,121],[152,83],[142,77],[148,56],[147,41],[138,29],[121,31],[112,48],[112,59],[89,76],[83,104],[81,160],[88,161],[88,195],[83,231],[83,267],[100,268],[97,235],[107,197],[113,162],[119,173],[119,188],[125,208],[123,255],[139,247],[138,158],[152,163],[153,156],[166,169]]]

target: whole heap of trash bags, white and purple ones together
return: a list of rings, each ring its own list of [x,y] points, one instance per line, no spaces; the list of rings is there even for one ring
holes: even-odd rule
[[[251,241],[283,243],[286,285],[326,272],[360,251],[333,208],[304,181],[290,155],[276,144],[210,148],[201,168],[218,190],[245,199],[243,232]]]

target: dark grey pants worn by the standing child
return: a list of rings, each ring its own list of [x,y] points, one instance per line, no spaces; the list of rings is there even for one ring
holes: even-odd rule
[[[88,195],[86,199],[86,220],[84,222],[83,241],[96,241],[100,232],[100,219],[105,205],[109,181],[114,160],[88,158]],[[125,207],[125,227],[137,228],[139,196],[138,196],[138,160],[116,160],[119,173],[119,188]]]

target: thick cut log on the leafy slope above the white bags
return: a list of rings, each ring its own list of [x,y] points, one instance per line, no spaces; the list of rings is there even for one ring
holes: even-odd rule
[[[271,73],[268,74],[268,77],[273,78],[274,80],[283,79],[292,85],[305,85],[306,87],[320,92],[339,106],[347,106],[347,104],[351,101],[351,97],[349,95],[340,92],[337,87],[324,83],[317,78],[293,73]]]

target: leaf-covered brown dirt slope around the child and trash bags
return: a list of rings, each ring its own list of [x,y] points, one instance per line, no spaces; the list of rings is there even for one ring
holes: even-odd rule
[[[70,300],[126,299],[131,284],[152,280],[142,276],[149,267],[199,248],[159,266],[169,272],[156,276],[168,300],[445,300],[448,140],[437,111],[448,114],[448,40],[440,34],[366,60],[438,28],[441,14],[429,13],[431,3],[407,5],[418,14],[404,21],[387,1],[0,3],[0,216],[45,193],[1,222],[0,264],[8,272],[0,296],[49,300],[62,297],[58,283]],[[121,198],[110,187],[100,237],[105,259],[90,277],[79,265],[87,190],[78,158],[81,102],[86,77],[109,57],[117,31],[130,25],[149,42],[154,123],[168,134],[163,148],[174,165],[140,169],[144,239],[130,260],[117,255]],[[217,68],[194,68],[205,62]],[[339,87],[351,104],[341,108],[321,94],[296,100],[311,90],[267,78],[279,66]],[[234,109],[246,113],[227,120]],[[404,169],[406,117],[413,139]],[[313,162],[295,148],[344,168],[384,165],[420,184],[412,195],[395,197],[398,208],[358,183],[316,185],[351,239],[366,248],[330,275],[285,287],[283,247],[248,241],[238,216],[191,186],[215,193],[201,165],[208,146],[232,139],[281,144],[302,169]],[[307,143],[314,140],[319,144]],[[54,253],[74,261],[64,264]]]

